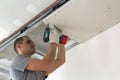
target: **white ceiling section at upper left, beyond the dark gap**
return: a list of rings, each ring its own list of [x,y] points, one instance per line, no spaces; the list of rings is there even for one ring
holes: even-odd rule
[[[57,0],[0,0],[0,41]]]

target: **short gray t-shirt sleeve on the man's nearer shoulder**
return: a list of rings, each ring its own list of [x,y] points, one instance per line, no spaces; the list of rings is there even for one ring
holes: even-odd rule
[[[14,58],[12,61],[11,68],[24,71],[27,67],[27,65],[31,62],[31,58],[25,55],[18,55],[17,57]]]

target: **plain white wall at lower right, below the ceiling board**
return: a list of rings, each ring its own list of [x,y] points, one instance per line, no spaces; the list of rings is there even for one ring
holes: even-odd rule
[[[67,51],[47,80],[120,80],[120,24]]]

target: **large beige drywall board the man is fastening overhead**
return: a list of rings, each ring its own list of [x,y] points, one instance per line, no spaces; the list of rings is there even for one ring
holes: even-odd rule
[[[120,0],[70,0],[44,19],[82,43],[120,22]]]

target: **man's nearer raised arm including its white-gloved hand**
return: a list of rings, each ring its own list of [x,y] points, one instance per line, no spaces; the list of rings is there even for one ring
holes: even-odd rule
[[[59,35],[56,30],[53,29],[50,33],[50,49],[46,56],[42,59],[33,59],[27,66],[28,70],[33,71],[49,71],[54,65],[56,48],[59,41]]]

